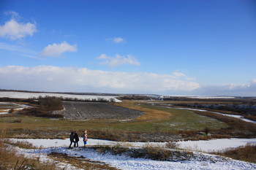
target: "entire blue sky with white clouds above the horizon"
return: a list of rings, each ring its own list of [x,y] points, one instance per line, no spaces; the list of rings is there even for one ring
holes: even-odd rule
[[[253,0],[0,3],[1,89],[256,96]]]

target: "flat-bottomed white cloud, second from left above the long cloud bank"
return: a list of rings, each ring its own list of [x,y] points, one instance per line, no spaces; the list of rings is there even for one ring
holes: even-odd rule
[[[76,51],[77,45],[69,45],[67,42],[62,42],[59,45],[55,43],[53,43],[53,45],[48,45],[41,51],[40,55],[45,57],[59,57],[62,53]]]

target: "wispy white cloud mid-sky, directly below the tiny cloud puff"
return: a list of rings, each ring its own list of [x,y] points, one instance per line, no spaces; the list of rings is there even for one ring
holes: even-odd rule
[[[99,60],[104,60],[100,64],[108,66],[119,66],[123,64],[130,64],[134,66],[140,66],[140,62],[132,55],[118,55],[111,57],[105,54],[99,55],[97,57]]]

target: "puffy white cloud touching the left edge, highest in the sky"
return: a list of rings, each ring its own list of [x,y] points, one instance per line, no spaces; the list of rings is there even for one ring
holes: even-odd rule
[[[0,26],[0,37],[7,37],[8,39],[22,39],[26,36],[33,36],[37,32],[34,23],[19,23],[15,18],[18,18],[17,12],[9,12],[12,15],[11,20]]]

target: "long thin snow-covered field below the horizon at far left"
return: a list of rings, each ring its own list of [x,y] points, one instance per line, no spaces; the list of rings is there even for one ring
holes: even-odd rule
[[[110,100],[110,98],[114,98],[116,102],[120,101],[116,99],[116,96],[91,96],[91,95],[75,95],[75,94],[62,94],[62,93],[26,93],[26,92],[15,92],[15,91],[1,91],[0,98],[8,97],[8,98],[38,98],[39,96],[56,96],[63,98],[78,98],[78,99],[97,99],[97,98],[105,98]]]

